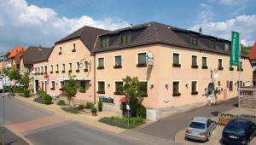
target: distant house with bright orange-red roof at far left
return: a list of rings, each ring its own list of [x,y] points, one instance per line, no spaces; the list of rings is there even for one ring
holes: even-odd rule
[[[25,51],[26,47],[23,46],[15,46],[13,49],[9,50],[6,55],[5,67],[20,69],[20,58]]]

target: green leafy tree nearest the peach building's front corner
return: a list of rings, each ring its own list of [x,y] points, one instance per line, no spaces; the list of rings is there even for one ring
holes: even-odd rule
[[[125,95],[129,100],[131,117],[136,116],[137,107],[139,105],[138,100],[145,94],[141,89],[143,84],[137,79],[137,77],[123,78],[124,85],[119,88],[119,90]]]

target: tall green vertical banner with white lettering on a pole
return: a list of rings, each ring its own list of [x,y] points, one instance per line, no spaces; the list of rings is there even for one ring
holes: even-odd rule
[[[230,65],[238,66],[240,56],[240,38],[239,32],[232,31],[231,49],[230,49]]]

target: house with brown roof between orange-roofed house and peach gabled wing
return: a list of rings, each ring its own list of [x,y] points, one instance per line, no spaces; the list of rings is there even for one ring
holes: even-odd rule
[[[33,78],[33,64],[41,61],[46,61],[51,53],[51,48],[41,46],[30,46],[20,59],[20,74],[29,73],[30,78]],[[33,89],[33,82],[29,84],[29,88]]]

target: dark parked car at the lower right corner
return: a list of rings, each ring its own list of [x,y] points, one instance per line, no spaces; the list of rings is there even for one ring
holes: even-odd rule
[[[233,119],[224,127],[223,144],[249,144],[256,135],[256,125],[246,119]]]

